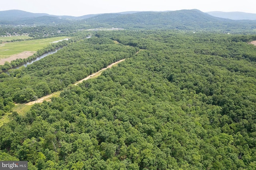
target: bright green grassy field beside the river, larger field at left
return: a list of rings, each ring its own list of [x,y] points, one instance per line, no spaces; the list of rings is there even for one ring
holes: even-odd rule
[[[55,42],[58,40],[63,40],[68,38],[66,36],[62,37],[54,37],[54,38],[44,38],[38,40],[28,40],[21,42],[9,42],[0,44],[0,59],[7,58],[10,55],[18,54],[24,51],[37,51],[38,49],[42,49],[46,47],[51,42]]]

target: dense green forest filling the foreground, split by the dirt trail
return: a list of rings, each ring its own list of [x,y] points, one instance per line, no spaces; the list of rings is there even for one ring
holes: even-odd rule
[[[255,35],[95,32],[0,75],[0,160],[29,169],[256,168]],[[118,43],[114,43],[118,42]],[[72,83],[126,58],[96,79]],[[63,89],[60,97],[12,111]]]

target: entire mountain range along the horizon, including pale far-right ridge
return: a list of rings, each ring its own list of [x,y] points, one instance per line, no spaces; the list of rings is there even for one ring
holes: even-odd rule
[[[218,14],[218,17],[216,15]],[[82,24],[90,28],[122,27],[122,28],[164,28],[179,30],[220,30],[236,32],[236,30],[256,30],[254,15],[234,12],[236,18],[247,20],[230,20],[226,12],[201,12],[200,10],[177,10],[165,12],[120,12],[110,14],[90,14],[80,17],[54,16],[21,10],[0,11],[0,25],[47,25],[47,24]],[[248,15],[245,15],[248,14]],[[212,16],[215,15],[215,16]],[[240,18],[238,17],[240,15]],[[250,16],[250,19],[249,19]]]

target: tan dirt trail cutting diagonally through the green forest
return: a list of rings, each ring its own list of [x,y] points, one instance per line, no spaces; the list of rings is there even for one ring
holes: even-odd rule
[[[88,76],[85,77],[84,79],[82,79],[82,80],[80,80],[80,81],[74,83],[74,85],[78,85],[79,83],[82,83],[84,80],[88,80],[88,79],[91,79],[91,78],[93,78],[93,77],[96,77],[96,76],[100,75],[102,71],[104,71],[104,70],[106,70],[106,69],[108,69],[108,68],[111,68],[113,65],[115,65],[115,64],[117,64],[117,63],[120,63],[120,62],[122,62],[122,61],[124,61],[124,60],[125,60],[125,59],[122,59],[122,60],[116,61],[115,63],[112,63],[112,64],[108,65],[108,67],[103,68],[103,69],[101,69],[100,71],[98,71],[98,72],[96,72],[96,73],[93,73],[93,74],[91,74],[91,75],[88,75]],[[54,95],[54,93],[52,93],[52,94],[50,94],[50,95],[47,95],[47,96],[44,96],[44,97],[41,97],[40,99],[37,99],[36,101],[31,101],[31,102],[29,102],[29,103],[26,103],[26,105],[34,105],[35,103],[42,103],[45,99],[48,99],[49,97],[51,97],[51,96],[53,96],[53,95]],[[46,100],[46,101],[50,101],[50,99],[48,99],[48,100]]]

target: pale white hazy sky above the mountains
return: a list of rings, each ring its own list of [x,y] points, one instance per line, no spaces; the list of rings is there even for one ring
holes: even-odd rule
[[[256,0],[2,0],[0,11],[23,10],[58,16],[189,9],[256,14],[255,6]]]

